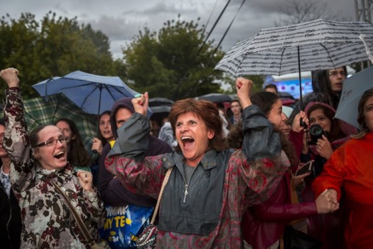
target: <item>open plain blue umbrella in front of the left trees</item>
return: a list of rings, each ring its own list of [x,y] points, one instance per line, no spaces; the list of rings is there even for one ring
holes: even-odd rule
[[[51,78],[32,87],[40,96],[63,93],[89,114],[111,110],[116,100],[134,97],[137,94],[119,77],[100,76],[82,71],[75,71],[61,78]]]

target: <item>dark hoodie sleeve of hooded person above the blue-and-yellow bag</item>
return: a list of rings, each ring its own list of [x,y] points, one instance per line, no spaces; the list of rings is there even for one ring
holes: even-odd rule
[[[114,207],[135,204],[143,207],[152,207],[155,205],[155,199],[149,196],[139,195],[127,190],[119,178],[114,178],[105,168],[105,157],[110,151],[110,144],[107,143],[103,150],[99,162],[98,191],[101,194],[102,201]]]

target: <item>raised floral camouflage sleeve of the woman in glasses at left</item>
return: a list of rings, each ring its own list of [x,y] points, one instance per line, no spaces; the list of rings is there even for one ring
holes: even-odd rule
[[[24,119],[20,89],[5,90],[4,119],[7,123],[3,147],[10,157],[10,182],[17,192],[34,185],[35,170],[31,161],[31,145]]]

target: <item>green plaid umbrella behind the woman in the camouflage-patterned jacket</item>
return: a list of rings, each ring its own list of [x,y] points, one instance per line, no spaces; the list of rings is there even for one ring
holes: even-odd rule
[[[24,112],[30,131],[42,124],[54,124],[60,118],[74,121],[82,136],[83,144],[92,154],[92,140],[96,136],[96,119],[83,112],[63,94],[51,95],[48,101],[42,97],[25,100]]]

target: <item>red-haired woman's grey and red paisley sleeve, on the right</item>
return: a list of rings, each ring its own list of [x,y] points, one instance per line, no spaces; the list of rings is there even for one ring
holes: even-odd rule
[[[244,141],[239,160],[239,174],[245,186],[245,207],[266,201],[275,191],[289,164],[282,164],[280,135],[274,132],[262,111],[255,105],[242,113]],[[236,167],[234,153],[231,165]]]

